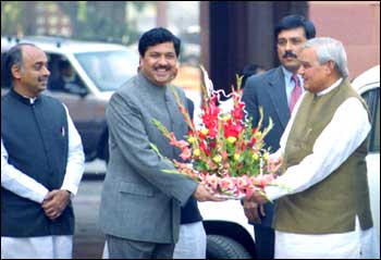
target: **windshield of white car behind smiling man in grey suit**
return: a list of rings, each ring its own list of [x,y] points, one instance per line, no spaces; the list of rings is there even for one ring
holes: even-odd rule
[[[136,74],[137,57],[116,50],[76,53],[81,65],[100,91],[113,91]]]

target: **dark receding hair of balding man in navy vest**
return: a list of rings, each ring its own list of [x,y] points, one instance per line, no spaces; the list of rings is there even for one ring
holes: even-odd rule
[[[12,66],[16,65],[19,69],[23,66],[23,47],[24,46],[32,46],[35,48],[38,48],[37,46],[33,44],[17,44],[13,46],[11,49],[9,49],[5,53],[4,60],[3,60],[3,72],[1,73],[3,75],[4,82],[2,83],[4,86],[11,86],[13,76],[12,76]]]

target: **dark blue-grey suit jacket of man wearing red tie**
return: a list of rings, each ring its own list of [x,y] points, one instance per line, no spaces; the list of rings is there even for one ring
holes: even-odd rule
[[[259,107],[263,108],[263,126],[272,119],[274,126],[266,136],[267,147],[274,152],[280,147],[282,134],[290,120],[290,110],[285,91],[284,74],[282,67],[275,67],[263,74],[250,76],[244,86],[243,101],[249,116],[253,116],[253,125],[257,126],[259,121]],[[266,216],[261,225],[271,226],[273,207],[266,205]]]

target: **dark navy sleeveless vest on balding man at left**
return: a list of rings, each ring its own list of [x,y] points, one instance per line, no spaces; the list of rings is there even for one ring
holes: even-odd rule
[[[67,162],[67,119],[62,103],[40,95],[29,99],[11,89],[1,99],[1,137],[8,162],[49,190],[63,183]],[[1,187],[1,236],[73,235],[70,205],[50,221],[40,203]]]

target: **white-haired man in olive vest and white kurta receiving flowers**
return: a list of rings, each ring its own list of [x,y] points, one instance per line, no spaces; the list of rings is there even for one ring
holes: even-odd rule
[[[275,258],[380,258],[367,182],[368,109],[351,87],[343,45],[315,38],[302,48],[307,90],[272,154],[284,169],[266,197],[275,200]]]

